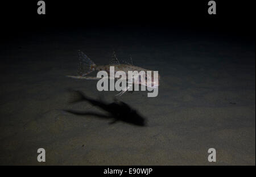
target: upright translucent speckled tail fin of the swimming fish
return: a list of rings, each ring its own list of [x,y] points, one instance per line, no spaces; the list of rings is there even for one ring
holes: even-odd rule
[[[81,50],[78,50],[79,54],[79,65],[77,68],[77,73],[80,76],[91,73],[96,69],[96,64],[89,57],[86,56]]]

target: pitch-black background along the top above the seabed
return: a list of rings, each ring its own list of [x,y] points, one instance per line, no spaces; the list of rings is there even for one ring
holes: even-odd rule
[[[221,33],[254,39],[253,1],[216,1],[217,14],[208,14],[208,1],[38,1],[1,2],[2,39],[24,32],[75,29],[172,29]]]

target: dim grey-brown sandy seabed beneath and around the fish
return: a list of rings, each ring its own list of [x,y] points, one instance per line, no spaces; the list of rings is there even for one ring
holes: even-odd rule
[[[102,112],[69,104],[69,88],[109,103],[118,93],[65,77],[76,74],[78,49],[97,65],[115,49],[120,61],[131,54],[134,65],[159,71],[155,98],[146,91],[117,97],[146,117],[146,127],[62,111]],[[40,147],[44,165],[255,165],[255,43],[60,33],[20,38],[1,58],[1,165],[42,165]]]

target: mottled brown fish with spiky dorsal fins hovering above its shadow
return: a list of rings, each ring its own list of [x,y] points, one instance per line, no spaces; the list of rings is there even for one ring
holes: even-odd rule
[[[70,78],[75,78],[75,79],[88,79],[88,80],[98,80],[102,78],[98,77],[89,77],[86,76],[89,73],[92,73],[93,71],[106,71],[108,73],[108,78],[110,76],[110,66],[114,66],[114,74],[117,71],[124,71],[126,73],[126,78],[127,78],[127,83],[128,86],[123,88],[122,91],[117,94],[121,96],[123,93],[125,93],[127,90],[129,90],[130,87],[132,87],[135,84],[138,85],[143,85],[146,87],[150,88],[156,88],[159,86],[159,80],[160,80],[160,75],[158,74],[158,79],[157,81],[154,81],[154,71],[148,70],[148,69],[143,69],[138,66],[133,65],[133,59],[130,56],[131,64],[126,63],[126,64],[121,64],[117,58],[117,54],[113,52],[112,58],[110,58],[110,63],[109,65],[101,65],[97,66],[86,54],[84,54],[81,50],[78,51],[79,53],[79,65],[77,68],[77,74],[78,75],[67,75],[67,77]],[[133,75],[133,78],[129,78],[128,71],[144,71],[143,74],[139,74],[136,78]],[[147,78],[147,71],[151,71],[151,77]],[[113,77],[114,78],[114,77]],[[120,78],[114,78],[114,79],[120,79]]]

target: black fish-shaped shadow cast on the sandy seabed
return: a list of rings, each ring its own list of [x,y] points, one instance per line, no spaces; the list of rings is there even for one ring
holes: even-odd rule
[[[90,111],[76,111],[72,109],[64,109],[63,111],[73,113],[80,116],[96,116],[104,119],[112,119],[109,124],[117,123],[122,121],[124,123],[129,123],[137,126],[146,126],[146,119],[139,115],[139,113],[131,108],[128,104],[121,102],[119,100],[114,100],[113,103],[105,103],[102,100],[96,100],[89,98],[82,91],[78,90],[69,90],[75,93],[76,99],[69,103],[78,103],[78,102],[88,102],[92,106],[96,106],[106,111],[106,114],[90,112]]]

